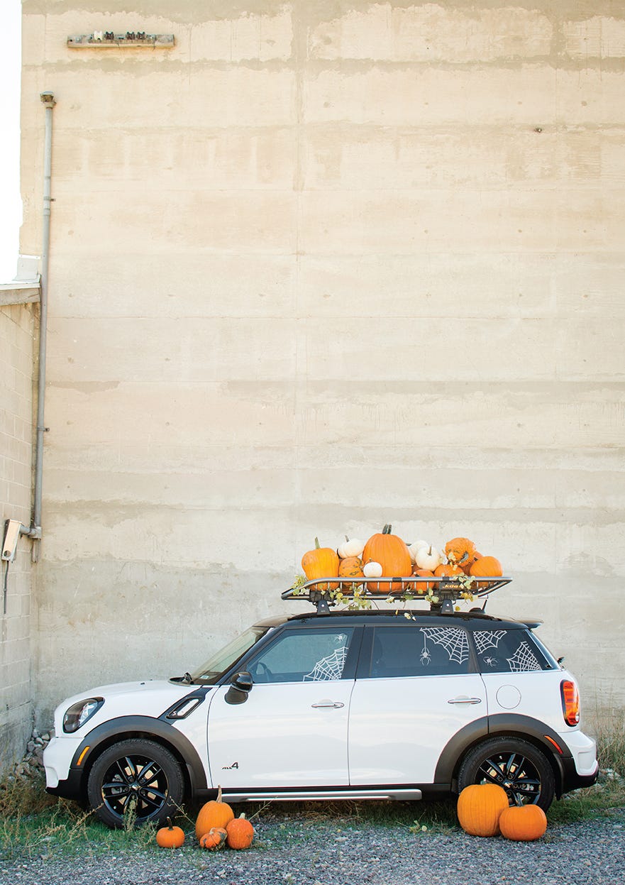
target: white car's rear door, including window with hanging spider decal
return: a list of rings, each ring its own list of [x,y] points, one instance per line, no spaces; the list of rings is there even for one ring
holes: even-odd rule
[[[367,627],[351,696],[350,783],[428,784],[446,743],[486,717],[467,631]]]

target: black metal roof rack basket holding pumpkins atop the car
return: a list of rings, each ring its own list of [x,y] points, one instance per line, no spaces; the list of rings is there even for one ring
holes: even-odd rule
[[[313,581],[297,584],[284,590],[282,599],[303,600],[317,607],[317,614],[329,612],[331,605],[346,602],[375,599],[377,602],[423,601],[428,602],[432,612],[452,614],[453,605],[459,599],[486,597],[482,612],[490,593],[505,587],[512,578],[367,578],[354,581],[353,578],[316,578]],[[361,606],[369,607],[367,604]]]

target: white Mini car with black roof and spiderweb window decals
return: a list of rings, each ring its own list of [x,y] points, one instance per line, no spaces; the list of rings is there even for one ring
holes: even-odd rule
[[[450,609],[331,612],[321,600],[258,622],[193,673],[81,692],[55,713],[47,789],[120,827],[131,804],[162,822],[218,785],[246,802],[413,800],[494,782],[511,804],[546,809],[594,783],[575,679],[538,625]]]

